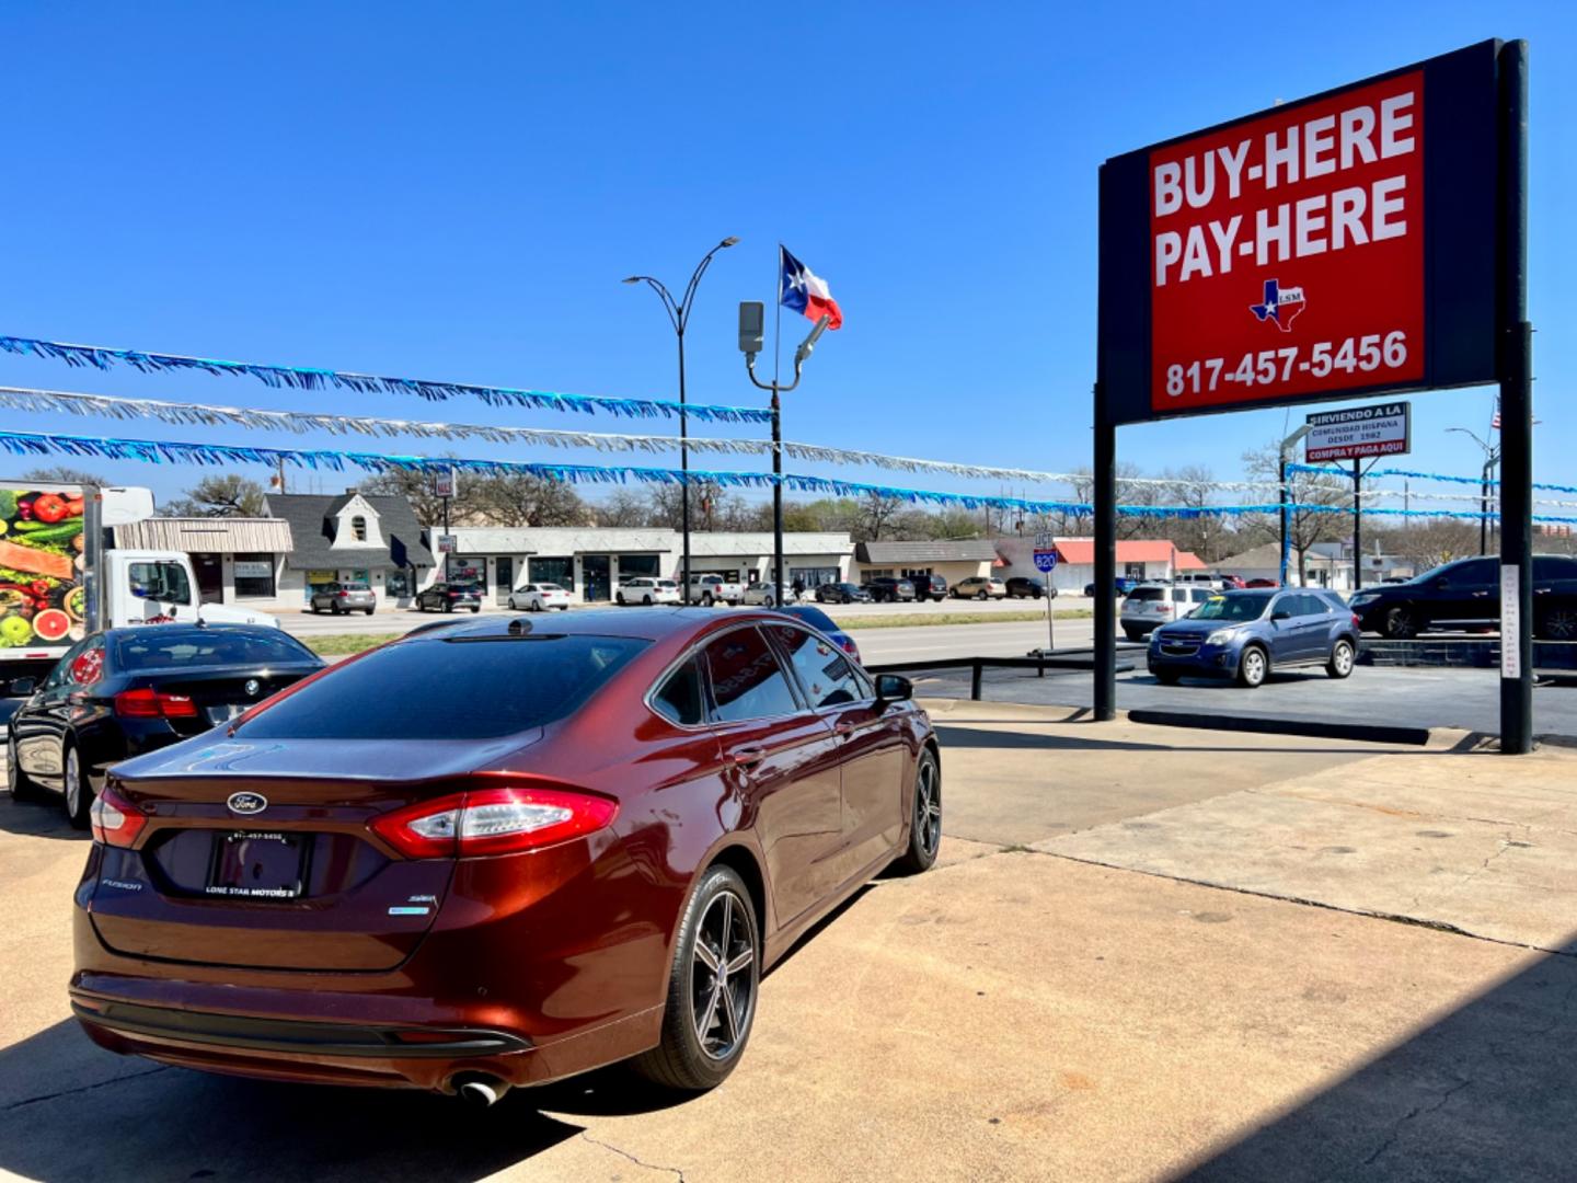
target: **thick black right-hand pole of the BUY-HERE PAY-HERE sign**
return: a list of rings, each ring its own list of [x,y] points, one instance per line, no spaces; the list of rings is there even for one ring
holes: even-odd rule
[[[1528,323],[1528,43],[1500,82],[1500,749],[1533,751],[1533,325]]]

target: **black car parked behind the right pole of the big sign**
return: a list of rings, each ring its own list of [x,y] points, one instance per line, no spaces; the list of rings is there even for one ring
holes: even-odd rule
[[[1459,558],[1405,584],[1355,592],[1348,606],[1364,633],[1394,640],[1427,629],[1498,628],[1500,560]],[[1577,558],[1533,557],[1533,636],[1577,640]]]

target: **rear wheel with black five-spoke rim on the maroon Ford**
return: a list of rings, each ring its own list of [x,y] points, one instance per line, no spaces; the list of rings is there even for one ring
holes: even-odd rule
[[[634,1069],[665,1088],[691,1093],[722,1084],[751,1038],[762,981],[760,948],[744,880],[727,866],[705,871],[673,942],[661,1039],[636,1057]]]

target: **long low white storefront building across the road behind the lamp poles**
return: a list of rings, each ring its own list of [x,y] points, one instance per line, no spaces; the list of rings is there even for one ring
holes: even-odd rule
[[[478,582],[490,604],[505,604],[524,584],[558,584],[579,603],[607,603],[626,579],[678,579],[684,562],[677,530],[456,527],[449,533],[454,550],[443,557],[443,574],[434,571],[431,579]],[[852,549],[847,533],[787,533],[788,579],[806,585],[845,579]],[[691,574],[716,573],[751,584],[771,579],[771,562],[770,533],[691,535]]]

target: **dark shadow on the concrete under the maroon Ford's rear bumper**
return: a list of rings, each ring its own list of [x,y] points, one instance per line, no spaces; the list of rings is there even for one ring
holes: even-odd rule
[[[404,1088],[276,1084],[96,1047],[66,1019],[0,1051],[0,1175],[36,1180],[479,1180],[583,1126],[689,1099],[613,1066],[490,1109]]]

